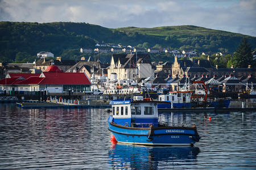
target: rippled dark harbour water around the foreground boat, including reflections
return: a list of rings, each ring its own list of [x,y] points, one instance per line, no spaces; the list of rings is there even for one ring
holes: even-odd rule
[[[201,140],[194,147],[114,145],[109,114],[1,103],[0,169],[256,168],[256,111],[159,114],[160,121],[195,124]]]

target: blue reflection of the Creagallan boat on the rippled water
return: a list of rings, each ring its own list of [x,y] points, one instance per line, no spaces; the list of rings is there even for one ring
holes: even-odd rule
[[[181,168],[195,164],[200,150],[189,146],[141,146],[113,144],[109,151],[109,164],[112,169],[157,169]]]

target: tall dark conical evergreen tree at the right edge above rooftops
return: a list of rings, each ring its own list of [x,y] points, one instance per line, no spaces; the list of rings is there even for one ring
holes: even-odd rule
[[[251,46],[245,38],[242,39],[241,44],[234,52],[232,65],[234,68],[247,68],[248,65],[254,67],[253,54]]]

